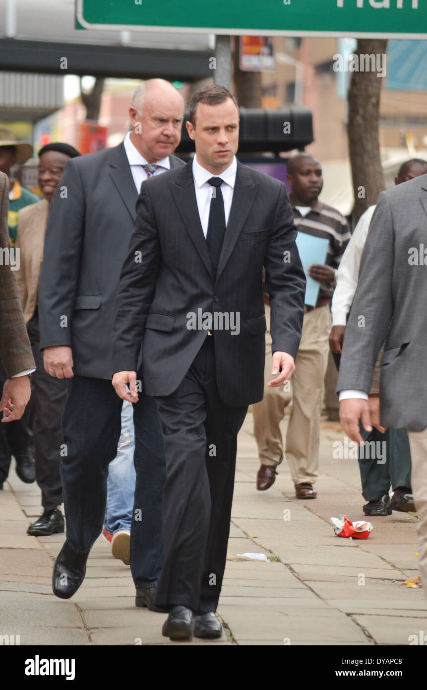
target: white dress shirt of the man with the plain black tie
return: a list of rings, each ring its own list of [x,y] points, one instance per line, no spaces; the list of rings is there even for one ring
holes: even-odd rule
[[[199,209],[201,227],[205,237],[208,234],[210,199],[212,199],[212,187],[208,184],[208,179],[211,177],[221,177],[224,180],[224,184],[221,185],[221,193],[224,199],[224,213],[226,214],[227,225],[228,218],[230,217],[232,194],[235,188],[236,172],[237,160],[235,156],[233,156],[228,168],[221,172],[221,175],[212,175],[212,172],[202,168],[197,162],[197,156],[192,159],[192,176],[195,180],[197,208]]]

